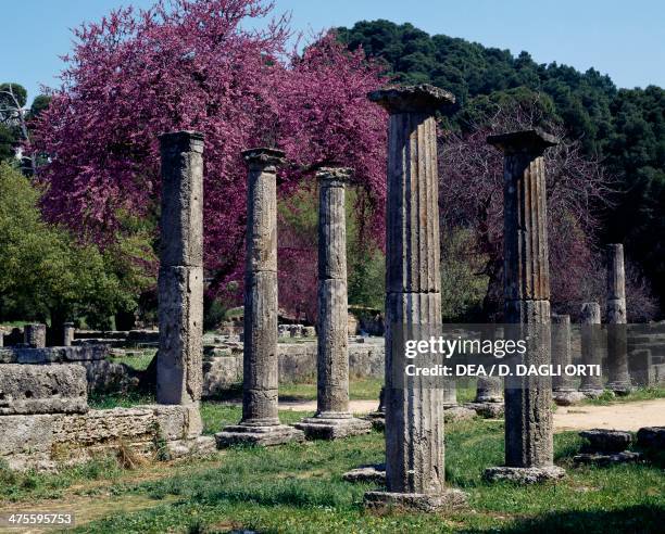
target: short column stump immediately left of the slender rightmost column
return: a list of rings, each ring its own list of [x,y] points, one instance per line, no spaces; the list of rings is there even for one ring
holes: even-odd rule
[[[598,373],[581,377],[579,392],[590,398],[598,398],[603,394],[603,377],[601,353],[601,317],[600,304],[586,302],[580,312],[581,363],[585,366],[597,366]]]

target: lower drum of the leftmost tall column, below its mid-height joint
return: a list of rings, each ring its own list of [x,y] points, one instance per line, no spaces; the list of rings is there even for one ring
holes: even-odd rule
[[[191,404],[201,398],[203,268],[162,267],[158,402]]]

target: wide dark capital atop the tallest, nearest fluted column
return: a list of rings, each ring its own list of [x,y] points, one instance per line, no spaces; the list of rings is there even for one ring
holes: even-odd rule
[[[367,93],[367,98],[390,114],[431,113],[455,103],[455,97],[429,84],[390,86]]]

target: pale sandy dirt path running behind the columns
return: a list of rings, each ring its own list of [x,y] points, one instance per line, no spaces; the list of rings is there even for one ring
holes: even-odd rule
[[[376,400],[351,400],[354,414],[375,411]],[[315,400],[279,403],[279,409],[315,411]],[[637,431],[642,427],[665,427],[665,398],[616,403],[608,406],[560,407],[554,412],[554,430],[616,429]]]

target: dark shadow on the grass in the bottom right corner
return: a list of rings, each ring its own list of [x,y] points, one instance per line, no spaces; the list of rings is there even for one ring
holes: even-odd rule
[[[543,513],[535,518],[517,520],[511,524],[492,527],[492,532],[510,534],[622,534],[662,533],[665,506],[636,505],[612,511],[585,510]],[[486,531],[468,531],[486,532]]]

